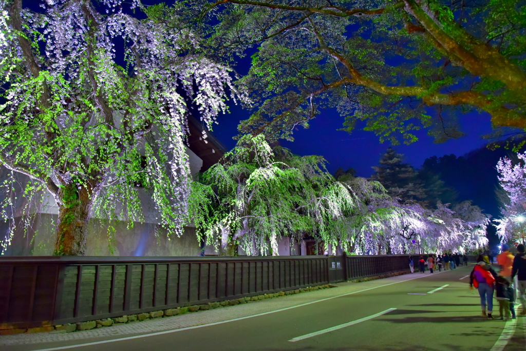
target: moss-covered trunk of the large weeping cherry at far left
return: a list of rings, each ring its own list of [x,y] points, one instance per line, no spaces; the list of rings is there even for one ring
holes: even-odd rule
[[[62,185],[58,193],[57,240],[54,255],[83,256],[86,253],[86,238],[91,209],[91,188],[77,188],[75,182]]]

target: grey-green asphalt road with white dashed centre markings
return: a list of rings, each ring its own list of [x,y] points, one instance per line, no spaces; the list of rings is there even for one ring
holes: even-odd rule
[[[500,321],[495,300],[494,316],[497,319],[488,321],[480,317],[478,293],[469,289],[468,278],[461,279],[469,274],[471,268],[432,275],[425,273],[426,277],[420,279],[287,311],[175,333],[125,338],[102,344],[96,342],[104,339],[84,340],[83,343],[95,344],[76,346],[74,349],[524,351],[526,316],[518,317],[516,324]],[[420,273],[413,275],[416,277]],[[431,291],[434,292],[429,293]],[[409,295],[415,293],[422,295]],[[510,333],[503,333],[505,326]],[[336,330],[326,330],[335,327]],[[17,345],[3,348],[3,351],[54,350],[72,344]]]

